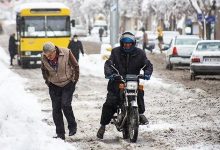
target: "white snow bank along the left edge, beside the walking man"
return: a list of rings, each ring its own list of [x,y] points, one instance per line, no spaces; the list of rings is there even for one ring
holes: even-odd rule
[[[2,49],[1,57],[6,54]],[[53,128],[41,121],[37,98],[24,90],[24,79],[4,65],[0,57],[0,147],[1,150],[73,150],[70,144],[53,139]],[[7,57],[6,57],[7,58]]]

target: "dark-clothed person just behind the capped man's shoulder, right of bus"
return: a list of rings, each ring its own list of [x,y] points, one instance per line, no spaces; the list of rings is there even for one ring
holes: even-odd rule
[[[84,55],[82,42],[78,40],[77,35],[73,36],[72,40],[68,44],[68,48],[73,53],[73,55],[76,58],[77,62],[79,61],[79,51],[81,51],[82,55]]]

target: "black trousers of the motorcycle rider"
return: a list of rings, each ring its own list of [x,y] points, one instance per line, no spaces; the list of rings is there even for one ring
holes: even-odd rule
[[[139,91],[137,96],[138,111],[140,114],[145,112],[144,105],[144,91]],[[107,98],[102,107],[101,125],[107,125],[110,123],[114,113],[117,111],[117,106],[120,104],[120,96],[114,92],[108,91]]]

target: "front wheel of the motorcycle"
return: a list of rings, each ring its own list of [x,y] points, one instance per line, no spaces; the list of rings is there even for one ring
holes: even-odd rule
[[[139,128],[139,113],[137,107],[131,107],[128,117],[128,130],[130,142],[136,142],[138,137],[138,128]]]

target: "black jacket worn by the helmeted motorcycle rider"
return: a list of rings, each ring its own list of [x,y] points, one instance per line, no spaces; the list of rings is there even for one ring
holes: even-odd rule
[[[110,58],[105,62],[104,71],[106,77],[116,73],[111,65],[113,65],[123,77],[125,77],[126,74],[139,75],[141,69],[143,69],[144,72],[148,72],[149,75],[153,72],[153,65],[147,59],[144,51],[136,47],[134,47],[132,53],[125,53],[121,47],[114,48]],[[109,80],[108,90],[115,91],[115,85],[111,85],[113,83],[115,83],[115,81]]]

